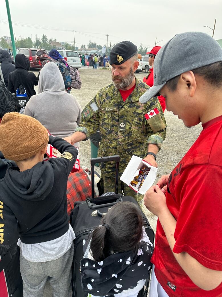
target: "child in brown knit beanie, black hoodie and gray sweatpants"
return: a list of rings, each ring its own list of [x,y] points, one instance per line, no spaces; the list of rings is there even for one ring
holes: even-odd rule
[[[44,162],[48,142],[62,156]],[[68,222],[66,187],[78,151],[48,137],[36,119],[15,112],[2,118],[0,150],[18,166],[9,167],[0,180],[0,244],[20,247],[23,296],[43,296],[48,277],[55,296],[70,296],[75,233]]]

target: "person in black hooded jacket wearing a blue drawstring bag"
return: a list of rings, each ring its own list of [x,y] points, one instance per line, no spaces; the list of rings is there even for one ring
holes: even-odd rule
[[[19,88],[20,85],[25,88],[28,98],[36,95],[34,86],[38,85],[38,78],[33,72],[29,72],[30,61],[24,54],[17,54],[15,56],[15,71],[9,74],[8,90],[11,93]]]

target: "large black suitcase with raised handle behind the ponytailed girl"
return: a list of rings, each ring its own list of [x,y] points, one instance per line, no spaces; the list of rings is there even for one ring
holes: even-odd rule
[[[110,161],[116,161],[115,194],[94,198],[94,165],[96,163]],[[73,297],[87,297],[88,295],[87,293],[83,292],[81,288],[80,260],[83,258],[83,239],[86,238],[89,231],[100,224],[101,218],[107,213],[108,208],[112,207],[114,204],[121,203],[122,201],[130,201],[137,204],[134,198],[118,194],[119,161],[119,156],[91,159],[92,198],[88,198],[84,202],[75,203],[75,208],[70,214],[70,224],[73,227],[76,236],[74,241],[74,257],[72,267]],[[149,221],[142,210],[141,214],[143,216],[144,228],[147,235],[149,236],[149,240],[154,244],[154,231],[150,228]],[[138,297],[147,296],[148,286],[149,278],[147,279],[143,289],[139,292]]]

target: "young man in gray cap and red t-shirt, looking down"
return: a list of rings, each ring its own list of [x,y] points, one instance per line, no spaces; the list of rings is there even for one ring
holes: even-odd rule
[[[168,70],[168,72],[167,72]],[[222,296],[222,49],[209,35],[178,34],[158,52],[154,86],[187,127],[203,130],[176,168],[144,196],[158,216],[150,296]]]

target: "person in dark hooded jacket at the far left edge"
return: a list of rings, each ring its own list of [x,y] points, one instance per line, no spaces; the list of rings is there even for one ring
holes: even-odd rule
[[[0,63],[3,74],[3,78],[1,78],[1,75],[0,78],[1,80],[4,79],[4,83],[8,87],[9,73],[15,70],[15,65],[13,65],[15,63],[7,50],[0,50]]]

